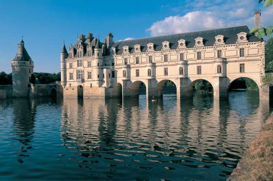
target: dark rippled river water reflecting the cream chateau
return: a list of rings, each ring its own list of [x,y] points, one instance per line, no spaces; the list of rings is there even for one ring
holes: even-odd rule
[[[0,101],[0,180],[226,180],[270,114],[257,93]]]

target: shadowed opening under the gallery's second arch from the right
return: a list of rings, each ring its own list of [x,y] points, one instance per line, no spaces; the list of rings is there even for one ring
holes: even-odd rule
[[[195,93],[213,95],[214,87],[213,84],[206,79],[196,79],[191,82],[189,90],[191,91],[192,95],[194,95]]]

